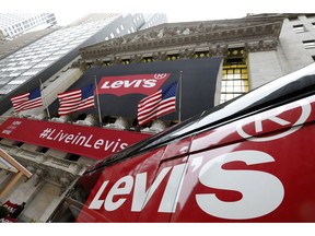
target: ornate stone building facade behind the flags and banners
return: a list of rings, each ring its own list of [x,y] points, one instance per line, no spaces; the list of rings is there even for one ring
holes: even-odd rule
[[[127,68],[130,64],[140,67],[163,61],[188,60],[198,63],[198,60],[203,58],[222,58],[218,73],[220,79],[213,91],[215,106],[313,63],[315,59],[314,25],[315,14],[259,14],[234,20],[164,23],[149,28],[141,27],[139,32],[130,32],[118,37],[115,35],[112,37],[113,32],[109,32],[101,42],[81,45],[78,57],[63,64],[58,72],[47,75],[43,93],[45,101],[54,104],[58,93],[67,91],[94,68],[109,69],[119,66],[119,69],[124,69],[125,66]],[[120,27],[120,24],[118,28],[119,31],[126,30]],[[2,113],[5,122],[7,117],[13,116],[13,108],[9,101],[3,99],[2,104],[8,107]],[[57,121],[95,129],[100,125],[95,116],[84,110],[72,117],[49,118],[42,107],[23,111],[22,115],[45,120],[47,123]],[[103,114],[104,117],[107,115]],[[113,120],[97,130],[125,130],[128,127],[131,133],[139,133],[135,123],[128,123],[128,120],[124,119],[126,117],[109,118]],[[178,120],[171,121],[178,122]],[[149,131],[155,129],[159,132],[175,122],[153,122],[145,129]],[[62,127],[66,129],[66,125]],[[63,131],[59,132],[59,138],[65,134],[66,131]],[[81,138],[79,131],[77,133],[78,139]],[[77,138],[74,139],[77,141]],[[108,146],[120,143],[120,139],[117,138]],[[79,155],[60,151],[57,148],[51,149],[3,138],[3,135],[0,140],[0,149],[11,154],[33,174],[30,179],[22,178],[8,194],[0,199],[2,202],[8,199],[19,203],[26,201],[26,208],[20,216],[21,222],[45,222],[63,194],[71,189],[75,179],[89,165],[95,163],[89,154]],[[0,189],[10,181],[10,172],[5,169],[0,170]]]

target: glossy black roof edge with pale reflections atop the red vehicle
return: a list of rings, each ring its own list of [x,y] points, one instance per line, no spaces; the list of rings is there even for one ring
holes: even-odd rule
[[[144,152],[187,135],[212,129],[244,116],[270,109],[315,93],[315,63],[271,81],[249,93],[189,118],[159,134],[113,154],[86,172],[112,165],[139,152]]]

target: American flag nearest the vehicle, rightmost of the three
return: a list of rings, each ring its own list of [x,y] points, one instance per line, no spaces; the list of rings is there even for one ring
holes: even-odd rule
[[[138,122],[140,126],[175,111],[177,83],[178,81],[173,82],[139,102]]]

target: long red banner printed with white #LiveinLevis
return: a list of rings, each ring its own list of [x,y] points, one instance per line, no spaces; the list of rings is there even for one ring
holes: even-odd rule
[[[0,126],[0,138],[102,160],[151,134],[79,125],[9,118]]]

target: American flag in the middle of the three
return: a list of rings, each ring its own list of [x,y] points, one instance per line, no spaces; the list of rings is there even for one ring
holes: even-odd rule
[[[81,90],[60,93],[57,96],[60,104],[58,108],[59,116],[94,107],[94,84],[84,86]]]

